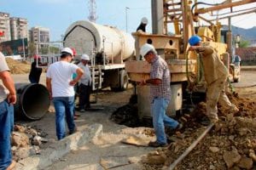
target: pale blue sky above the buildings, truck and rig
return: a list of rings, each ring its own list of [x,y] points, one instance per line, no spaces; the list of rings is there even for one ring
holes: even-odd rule
[[[28,20],[29,28],[43,26],[50,29],[50,41],[61,40],[67,27],[77,20],[88,20],[89,0],[0,0],[0,11],[12,17]],[[208,0],[207,3],[223,1]],[[255,7],[255,3],[252,3]],[[252,5],[251,4],[251,5]],[[125,31],[125,7],[128,16],[128,32],[135,31],[145,16],[151,28],[151,0],[96,0],[96,23],[117,26]],[[232,19],[232,25],[243,28],[256,26],[256,14],[242,15]]]

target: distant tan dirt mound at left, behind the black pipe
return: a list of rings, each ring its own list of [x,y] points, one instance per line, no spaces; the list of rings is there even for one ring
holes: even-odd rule
[[[31,68],[31,64],[26,61],[18,61],[15,59],[6,58],[6,62],[12,74],[26,74],[29,73]]]

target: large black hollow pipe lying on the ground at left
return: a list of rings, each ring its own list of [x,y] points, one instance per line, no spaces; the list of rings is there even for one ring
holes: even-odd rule
[[[15,119],[39,120],[49,109],[49,92],[42,84],[15,83]]]

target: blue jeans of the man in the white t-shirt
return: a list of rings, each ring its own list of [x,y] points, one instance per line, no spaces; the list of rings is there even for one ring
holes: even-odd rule
[[[58,140],[65,138],[65,116],[69,133],[75,131],[75,123],[73,120],[74,97],[54,97],[55,105],[55,126]]]

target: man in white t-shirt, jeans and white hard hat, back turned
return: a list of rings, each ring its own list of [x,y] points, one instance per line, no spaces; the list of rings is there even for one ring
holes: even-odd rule
[[[59,140],[66,136],[65,116],[69,134],[75,133],[77,130],[73,121],[73,86],[79,82],[84,71],[78,65],[70,63],[72,59],[73,50],[63,48],[61,50],[61,60],[49,65],[46,73],[46,86],[55,105],[55,126]],[[74,79],[72,77],[73,73],[77,73],[77,77]]]

